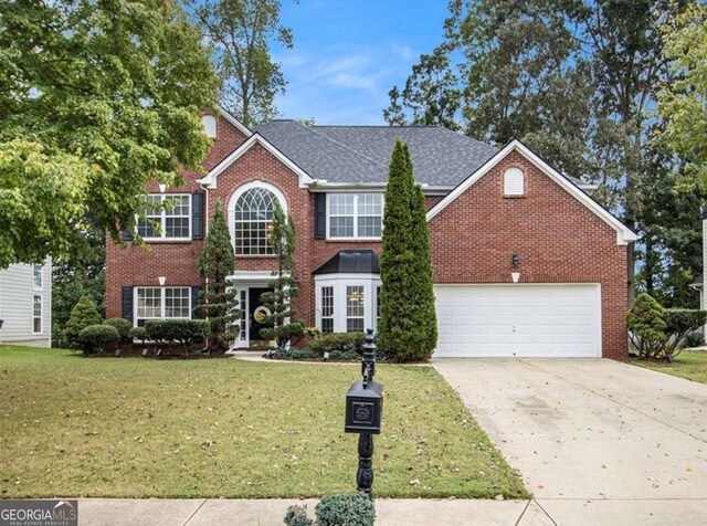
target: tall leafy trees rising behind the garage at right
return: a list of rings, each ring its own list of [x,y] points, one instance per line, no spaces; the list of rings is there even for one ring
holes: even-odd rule
[[[674,173],[697,172],[700,147],[707,151],[697,107],[705,92],[690,87],[705,76],[704,12],[686,0],[451,0],[443,41],[420,56],[402,91],[391,90],[383,116],[496,146],[517,138],[599,185],[593,197],[640,235],[629,251],[637,288],[688,306],[696,296],[678,288],[699,272],[686,251],[704,196],[666,202],[680,208],[677,219],[654,207],[655,192],[671,194],[684,181]],[[690,69],[692,82],[683,76]],[[673,155],[653,140],[659,135],[672,137]]]

